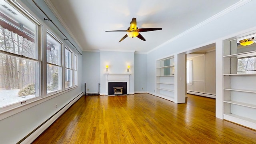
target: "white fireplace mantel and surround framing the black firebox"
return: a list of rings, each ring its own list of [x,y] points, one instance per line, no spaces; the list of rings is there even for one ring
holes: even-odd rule
[[[129,74],[105,74],[106,76],[106,95],[108,95],[109,82],[126,82],[127,94],[130,94],[130,73]]]

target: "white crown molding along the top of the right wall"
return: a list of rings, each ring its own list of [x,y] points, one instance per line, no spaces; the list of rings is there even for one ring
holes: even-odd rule
[[[186,30],[185,32],[182,32],[181,34],[175,36],[174,38],[171,38],[170,40],[168,40],[167,42],[164,42],[162,44],[160,44],[159,46],[157,46],[156,48],[153,48],[152,50],[148,51],[147,54],[149,54],[150,52],[153,52],[154,50],[157,50],[158,48],[161,48],[162,46],[173,42],[174,40],[177,40],[178,38],[181,38],[182,36],[185,36],[186,34],[189,34],[190,32],[193,32],[194,30],[216,20],[217,18],[220,18],[221,16],[224,16],[225,14],[228,14],[229,12],[232,12],[233,10],[239,8],[240,6],[243,6],[244,4],[247,4],[248,2],[250,2],[252,0],[240,0],[239,2],[237,2],[236,4],[233,4],[232,6],[226,8],[225,10],[222,10],[221,12],[219,12],[218,14],[215,14],[214,16],[204,20],[203,22],[197,24],[196,26]]]

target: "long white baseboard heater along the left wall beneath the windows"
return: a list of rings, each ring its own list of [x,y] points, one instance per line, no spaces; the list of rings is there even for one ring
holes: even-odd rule
[[[65,106],[63,106],[60,110],[54,113],[50,118],[40,124],[37,128],[35,128],[32,132],[22,138],[17,144],[30,144],[32,143],[44,130],[46,130],[57,118],[59,118],[72,104],[74,104],[79,98],[83,96],[83,92],[81,92],[78,96],[76,96],[73,100],[68,102]]]

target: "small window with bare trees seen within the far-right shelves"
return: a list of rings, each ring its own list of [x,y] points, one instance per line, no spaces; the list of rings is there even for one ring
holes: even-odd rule
[[[256,74],[256,57],[238,58],[237,73],[238,74]]]

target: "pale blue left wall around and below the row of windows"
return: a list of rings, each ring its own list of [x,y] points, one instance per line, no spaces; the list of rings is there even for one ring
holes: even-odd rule
[[[45,22],[42,16],[38,14],[38,12],[35,11],[35,5],[32,2],[32,0],[22,0],[26,5],[22,4],[36,19],[38,19],[44,26],[43,28],[48,28],[51,32],[55,33],[58,38],[60,38],[66,45],[68,45],[70,48],[73,49],[72,45],[68,43],[67,41],[64,41],[64,36],[52,26],[51,23],[48,21]],[[60,24],[55,16],[50,12],[48,8],[46,8],[46,4],[43,0],[36,0],[42,4],[42,8],[45,9],[45,11],[49,14],[51,18],[53,18],[54,22],[58,25]],[[20,2],[18,0],[18,2]],[[31,10],[27,8],[31,8],[33,12],[36,14],[33,14]],[[35,9],[34,9],[35,8]],[[45,23],[44,23],[45,22]],[[49,27],[48,27],[49,26]],[[61,30],[63,32],[66,32],[66,30],[63,29],[63,27],[60,25]],[[45,34],[45,33],[44,33]],[[68,38],[71,38],[67,33],[66,36]],[[80,50],[80,48],[74,43],[72,39],[70,39],[72,43]],[[74,52],[76,52],[74,50]],[[82,52],[80,50],[80,52]],[[77,53],[77,52],[76,52]],[[18,141],[22,140],[27,134],[32,132],[36,127],[40,126],[42,122],[46,121],[50,116],[52,116],[54,113],[56,113],[58,110],[60,110],[63,106],[68,104],[71,100],[73,100],[76,96],[78,96],[84,88],[84,85],[82,84],[82,67],[83,67],[83,60],[82,56],[78,54],[78,87],[66,91],[64,94],[61,94],[59,96],[56,96],[50,100],[47,100],[45,102],[42,102],[40,104],[37,104],[33,107],[30,107],[26,110],[23,110],[21,112],[18,112],[16,114],[13,114],[12,116],[9,116],[7,118],[4,118],[0,120],[0,143],[1,144],[15,144]],[[58,108],[55,108],[55,105],[58,105]],[[23,105],[23,107],[26,108],[26,104]],[[11,112],[15,112],[16,110],[12,110]]]

